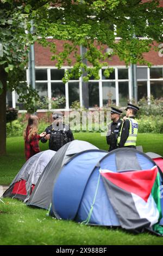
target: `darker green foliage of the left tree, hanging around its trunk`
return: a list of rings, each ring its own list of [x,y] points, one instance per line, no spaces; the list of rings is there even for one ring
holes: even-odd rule
[[[33,18],[30,11],[37,7],[30,4],[32,1],[0,1],[0,42],[3,47],[0,66],[7,73],[7,90],[15,90],[20,102],[23,101],[29,112],[33,112],[33,101],[39,96],[32,87],[27,87],[26,82],[22,83],[26,81],[24,69],[28,67],[29,46],[37,39],[35,34],[29,33]],[[0,82],[0,94],[4,86]]]

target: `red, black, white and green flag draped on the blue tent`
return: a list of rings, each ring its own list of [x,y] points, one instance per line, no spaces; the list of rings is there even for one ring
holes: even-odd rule
[[[99,172],[122,228],[142,231],[159,222],[160,176],[156,166],[121,173],[102,169]]]

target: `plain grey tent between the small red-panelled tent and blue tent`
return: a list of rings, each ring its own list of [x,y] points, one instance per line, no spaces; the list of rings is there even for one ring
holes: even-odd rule
[[[52,157],[51,161],[43,170],[33,193],[29,197],[27,205],[49,209],[52,202],[52,190],[54,180],[60,173],[60,169],[72,156],[89,149],[98,149],[89,142],[74,140],[68,142]]]

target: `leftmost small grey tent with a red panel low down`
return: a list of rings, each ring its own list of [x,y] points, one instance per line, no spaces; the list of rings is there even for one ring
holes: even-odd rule
[[[3,197],[12,197],[20,200],[28,200],[36,185],[43,169],[55,155],[53,150],[45,150],[30,157],[22,166]]]

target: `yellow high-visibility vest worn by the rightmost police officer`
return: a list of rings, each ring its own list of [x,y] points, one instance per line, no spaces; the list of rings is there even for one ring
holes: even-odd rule
[[[129,129],[129,136],[128,136],[126,142],[124,143],[124,147],[136,146],[138,123],[133,118],[128,117],[126,119],[128,119],[130,122],[130,129]],[[117,145],[119,145],[120,141],[121,141],[122,129],[123,129],[123,125],[121,127],[120,135],[118,136],[118,139],[117,139]]]

